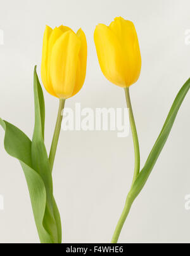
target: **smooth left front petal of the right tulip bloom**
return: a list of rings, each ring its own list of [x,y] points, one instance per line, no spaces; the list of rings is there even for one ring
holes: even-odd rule
[[[94,42],[105,77],[111,83],[125,87],[124,58],[116,34],[106,25],[99,24],[94,31]]]

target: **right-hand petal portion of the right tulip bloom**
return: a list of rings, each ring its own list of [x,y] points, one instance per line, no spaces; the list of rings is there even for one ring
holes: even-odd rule
[[[127,86],[135,83],[141,72],[141,52],[134,24],[122,17],[117,17],[110,24],[122,47],[125,66],[125,83]]]

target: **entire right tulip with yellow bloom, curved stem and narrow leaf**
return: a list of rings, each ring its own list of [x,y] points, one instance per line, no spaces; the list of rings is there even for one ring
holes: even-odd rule
[[[130,85],[136,83],[141,72],[141,53],[134,24],[122,17],[115,18],[107,27],[104,24],[96,26],[94,31],[94,43],[98,55],[99,65],[105,77],[125,90],[125,98],[129,109],[129,120],[134,143],[134,176],[130,191],[127,194],[124,210],[118,220],[111,243],[117,243],[130,208],[139,192],[143,189],[148,177],[156,163],[156,159],[162,151],[168,134],[172,128],[175,116],[179,110],[183,98],[190,88],[190,79],[184,84],[174,100],[168,117],[163,125],[148,159],[140,172],[139,140],[137,137],[136,123],[132,112],[132,104],[129,95]]]

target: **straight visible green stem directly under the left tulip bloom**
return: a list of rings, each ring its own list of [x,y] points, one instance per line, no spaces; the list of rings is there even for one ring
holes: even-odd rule
[[[65,99],[61,98],[60,99],[59,110],[58,110],[58,117],[57,117],[57,120],[56,120],[56,126],[54,128],[53,140],[52,140],[51,149],[50,149],[50,152],[49,152],[49,164],[50,164],[50,167],[51,167],[51,172],[53,170],[54,158],[55,158],[55,155],[56,155],[56,149],[57,149],[58,140],[59,140],[59,137],[60,137],[61,121],[63,119],[62,111],[64,109],[64,106],[65,106]]]

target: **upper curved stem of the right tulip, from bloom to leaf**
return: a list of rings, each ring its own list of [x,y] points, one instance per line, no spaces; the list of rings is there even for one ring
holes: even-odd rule
[[[134,184],[134,182],[137,178],[137,175],[139,174],[139,170],[140,170],[139,140],[138,140],[138,136],[137,136],[136,123],[135,123],[134,115],[132,112],[132,105],[130,102],[129,88],[126,87],[126,88],[124,88],[124,90],[125,90],[125,98],[126,98],[126,102],[127,102],[127,107],[129,109],[130,128],[132,131],[132,139],[133,139],[133,144],[134,144],[135,163],[134,163],[134,177],[132,180],[132,184]]]

